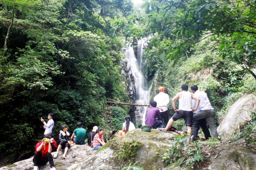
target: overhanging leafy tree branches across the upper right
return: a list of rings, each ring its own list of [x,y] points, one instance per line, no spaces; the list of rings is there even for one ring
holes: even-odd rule
[[[158,47],[173,64],[180,62],[202,39],[212,37],[216,41],[219,37],[219,56],[244,64],[243,70],[256,78],[255,7],[254,0],[150,0],[142,7],[146,14],[115,18],[112,24],[130,42],[133,37],[154,35],[149,47]],[[136,21],[142,26],[134,27]]]

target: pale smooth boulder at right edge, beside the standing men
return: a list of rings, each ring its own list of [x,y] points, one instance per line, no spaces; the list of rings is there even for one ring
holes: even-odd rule
[[[255,104],[255,96],[251,94],[240,98],[228,109],[217,129],[222,138],[227,139],[250,121],[250,111],[254,109]]]

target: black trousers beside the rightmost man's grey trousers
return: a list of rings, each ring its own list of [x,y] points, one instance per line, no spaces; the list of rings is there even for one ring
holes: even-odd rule
[[[197,140],[197,135],[198,135],[198,131],[199,131],[200,127],[202,128],[202,131],[204,132],[205,139],[208,139],[211,137],[210,131],[206,125],[206,119],[200,119],[198,121],[194,121],[194,123],[193,123],[194,137],[193,137],[192,141]]]

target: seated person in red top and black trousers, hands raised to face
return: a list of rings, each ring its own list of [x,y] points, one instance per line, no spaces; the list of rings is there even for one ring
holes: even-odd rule
[[[42,142],[36,144],[36,152],[34,154],[34,170],[39,170],[38,166],[43,166],[47,162],[50,164],[50,170],[56,170],[54,168],[54,162],[52,158],[52,146],[49,145],[51,142],[49,135],[44,135]]]

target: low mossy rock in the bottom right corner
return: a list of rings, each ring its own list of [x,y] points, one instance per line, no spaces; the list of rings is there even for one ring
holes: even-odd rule
[[[220,146],[217,148],[219,156],[211,157],[212,170],[256,170],[256,154],[244,147]]]

